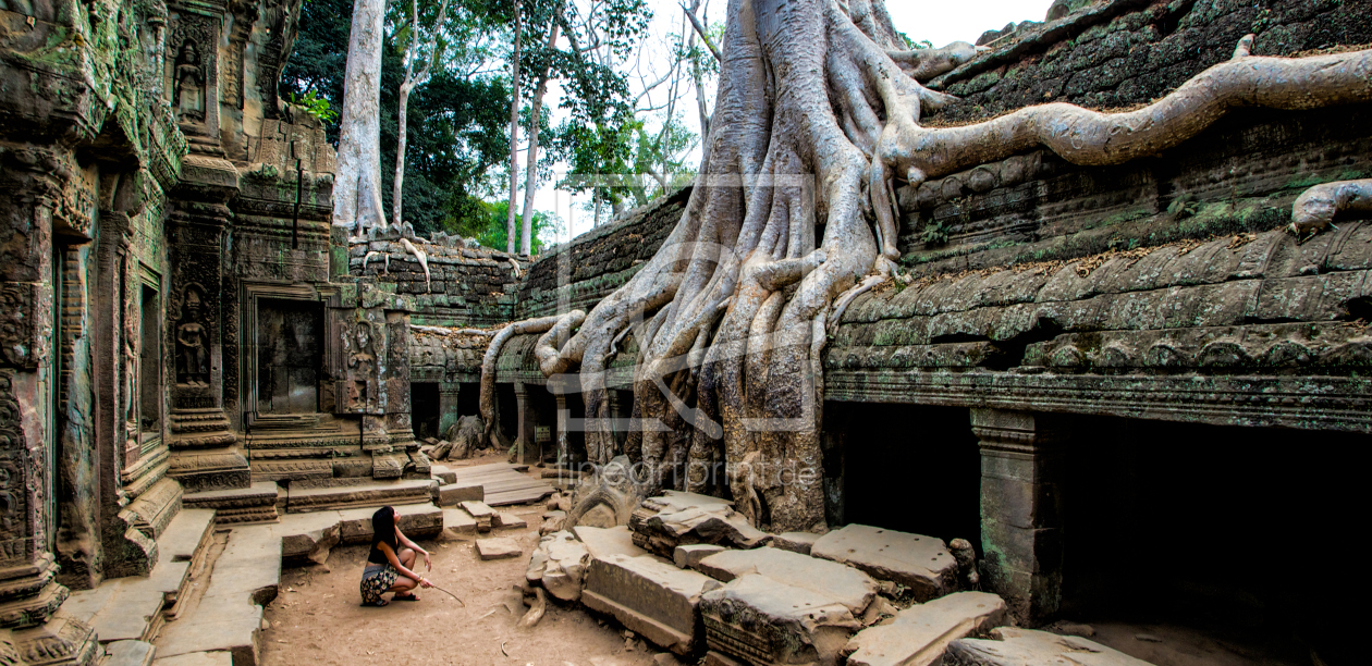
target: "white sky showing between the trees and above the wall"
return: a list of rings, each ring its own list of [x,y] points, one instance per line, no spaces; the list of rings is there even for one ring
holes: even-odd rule
[[[657,40],[661,44],[664,40],[663,36],[679,30],[682,12],[676,0],[650,0],[650,4],[656,15],[650,29],[653,36],[649,38]],[[722,21],[726,4],[727,0],[712,0],[709,3],[708,19],[711,22]],[[952,41],[974,42],[977,37],[981,37],[981,33],[999,30],[1011,21],[1017,23],[1021,21],[1043,21],[1048,14],[1050,5],[1052,5],[1052,0],[886,0],[886,10],[890,12],[896,30],[906,33],[915,41],[929,40],[936,47],[943,47]],[[654,51],[661,58],[667,58],[665,48],[659,47]],[[547,101],[554,110],[557,108],[557,96],[560,93],[560,89],[549,90]],[[686,107],[685,119],[687,125],[693,130],[700,132],[696,126],[694,93],[683,99],[682,104]],[[554,118],[554,123],[558,119]],[[693,159],[698,160],[698,155],[700,152],[696,151]],[[524,155],[521,153],[520,162],[523,163],[523,160]],[[564,221],[571,222],[571,233],[564,232],[558,243],[567,241],[591,227],[590,214],[573,206],[584,203],[589,197],[582,196],[573,200],[568,192],[554,190],[550,181],[539,186],[534,199],[536,210],[554,211]]]

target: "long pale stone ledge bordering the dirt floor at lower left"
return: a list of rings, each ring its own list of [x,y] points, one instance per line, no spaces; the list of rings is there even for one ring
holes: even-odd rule
[[[170,622],[155,641],[158,656],[230,652],[233,666],[257,666],[262,604],[276,597],[281,580],[277,525],[248,525],[229,533],[214,562],[204,596]]]

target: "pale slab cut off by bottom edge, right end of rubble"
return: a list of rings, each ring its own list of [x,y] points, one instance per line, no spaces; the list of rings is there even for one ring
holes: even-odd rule
[[[1117,650],[1077,636],[1002,626],[991,639],[960,639],[948,655],[969,666],[1151,666]]]

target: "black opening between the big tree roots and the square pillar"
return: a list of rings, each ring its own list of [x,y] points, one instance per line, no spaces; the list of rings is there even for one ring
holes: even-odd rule
[[[981,451],[970,411],[840,404],[826,407],[825,428],[842,433],[844,522],[966,539],[980,552]]]

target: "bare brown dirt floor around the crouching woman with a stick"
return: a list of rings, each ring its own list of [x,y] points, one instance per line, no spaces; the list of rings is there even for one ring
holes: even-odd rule
[[[466,463],[483,465],[502,458],[486,456]],[[473,547],[476,537],[471,536],[449,534],[445,540],[420,541],[434,554],[429,580],[460,596],[466,607],[435,589],[421,591],[423,599],[416,603],[394,602],[381,608],[359,606],[365,545],[335,548],[325,566],[283,570],[281,593],[266,607],[265,617],[272,626],[262,637],[263,665],[653,665],[656,650],[637,640],[627,651],[630,641],[622,628],[613,622],[601,624],[580,607],[558,607],[550,600],[538,626],[516,629],[527,607],[513,585],[524,580],[545,507],[501,510],[528,522],[523,530],[504,529],[490,534],[514,539],[524,550],[520,558],[482,562]],[[423,567],[423,560],[418,566]],[[502,645],[508,656],[501,652]]]

